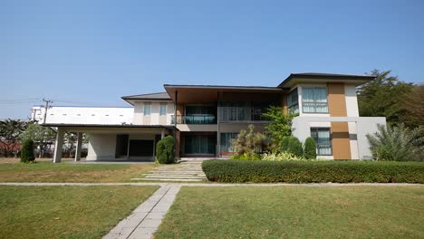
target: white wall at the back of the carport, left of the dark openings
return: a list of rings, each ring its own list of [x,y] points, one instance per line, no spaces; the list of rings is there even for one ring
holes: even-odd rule
[[[86,160],[114,160],[115,134],[89,134],[89,148]]]

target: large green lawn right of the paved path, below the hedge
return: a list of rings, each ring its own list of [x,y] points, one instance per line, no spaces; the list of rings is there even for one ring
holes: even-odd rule
[[[183,187],[156,238],[424,238],[424,186]]]

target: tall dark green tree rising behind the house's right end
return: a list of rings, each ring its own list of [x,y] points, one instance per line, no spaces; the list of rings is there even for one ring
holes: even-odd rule
[[[406,110],[402,102],[414,85],[390,76],[390,71],[373,70],[368,74],[376,78],[357,89],[360,115],[386,117],[389,123],[395,124],[404,121]]]

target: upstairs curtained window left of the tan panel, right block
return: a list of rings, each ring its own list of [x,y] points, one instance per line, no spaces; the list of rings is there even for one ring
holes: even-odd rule
[[[303,87],[302,108],[304,113],[328,113],[327,88]]]

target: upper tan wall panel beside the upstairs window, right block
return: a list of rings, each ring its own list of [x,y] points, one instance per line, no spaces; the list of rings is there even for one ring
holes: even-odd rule
[[[330,116],[347,116],[344,83],[328,83],[327,87]]]

